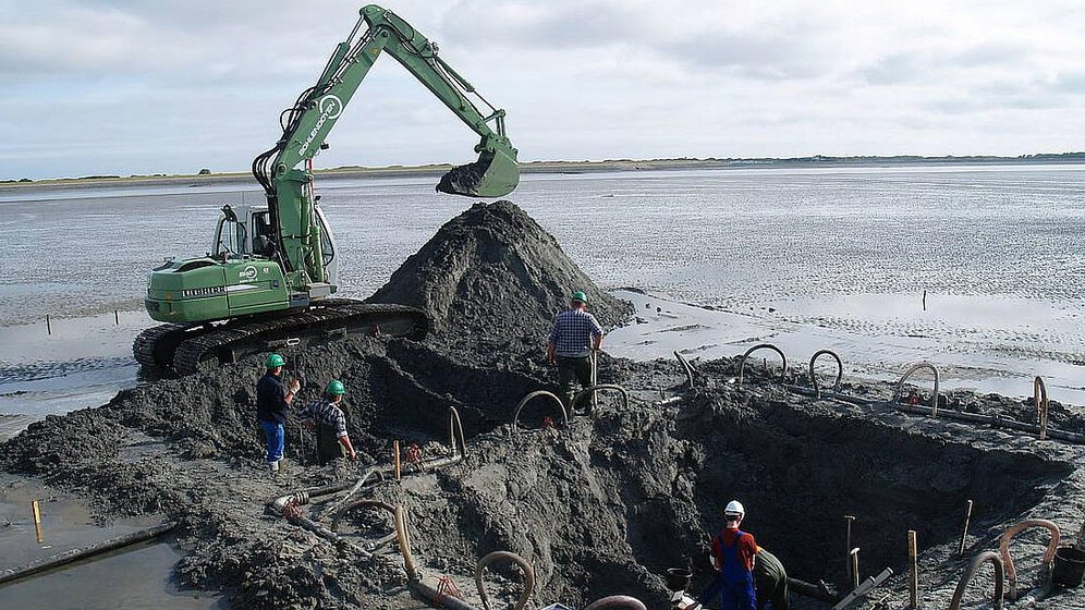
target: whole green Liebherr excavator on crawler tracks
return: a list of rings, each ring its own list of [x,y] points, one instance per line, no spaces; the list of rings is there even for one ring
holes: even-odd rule
[[[520,181],[516,149],[505,135],[504,110],[438,57],[436,44],[391,11],[370,4],[361,13],[316,85],[283,111],[282,137],[253,161],[267,207],[224,206],[207,256],[169,259],[150,273],[147,313],[167,324],[136,338],[139,364],[185,375],[346,335],[426,335],[429,318],[420,309],[332,297],[336,240],[314,195],[313,157],[327,148],[325,138],[381,52],[481,137],[478,160],[454,167],[437,191],[468,197],[511,193]],[[468,94],[489,109],[486,115]]]

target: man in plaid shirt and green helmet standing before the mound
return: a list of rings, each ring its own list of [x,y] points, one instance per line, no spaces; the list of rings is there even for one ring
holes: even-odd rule
[[[586,294],[573,294],[569,309],[553,318],[547,341],[547,356],[558,365],[558,382],[565,405],[572,408],[574,385],[580,382],[583,388],[592,385],[590,355],[602,344],[602,327],[587,313]]]

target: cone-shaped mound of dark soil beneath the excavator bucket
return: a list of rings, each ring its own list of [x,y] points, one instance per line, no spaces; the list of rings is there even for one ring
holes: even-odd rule
[[[600,290],[552,235],[502,200],[447,222],[369,301],[426,309],[441,342],[521,351],[542,344],[576,291],[604,326],[630,316],[631,304]]]

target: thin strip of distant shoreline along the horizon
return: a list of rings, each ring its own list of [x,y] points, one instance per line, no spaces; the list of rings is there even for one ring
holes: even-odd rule
[[[654,171],[680,169],[778,169],[778,168],[890,168],[907,166],[1038,166],[1085,164],[1085,152],[1043,154],[1022,157],[796,157],[790,159],[618,159],[605,161],[532,161],[520,163],[520,171],[532,173],[601,173],[613,171]],[[452,168],[449,163],[428,166],[389,166],[382,168],[341,167],[316,170],[321,178],[426,178],[440,176]],[[209,174],[155,174],[155,175],[95,175],[83,178],[45,179],[34,181],[2,181],[0,192],[53,188],[95,188],[102,186],[171,186],[188,183],[191,186],[207,184],[252,183],[248,172]]]

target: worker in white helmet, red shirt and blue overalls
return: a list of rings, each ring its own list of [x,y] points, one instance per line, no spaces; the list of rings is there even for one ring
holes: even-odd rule
[[[745,515],[746,510],[737,500],[731,500],[723,509],[726,527],[712,536],[712,568],[719,570],[719,574],[697,600],[702,606],[718,597],[720,610],[757,609],[753,574],[757,542],[752,535],[739,529]]]

